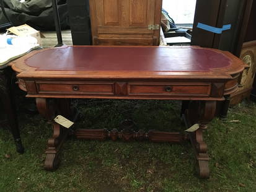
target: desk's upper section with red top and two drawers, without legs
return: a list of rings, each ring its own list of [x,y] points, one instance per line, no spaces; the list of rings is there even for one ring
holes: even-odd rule
[[[223,100],[223,92],[236,92],[245,65],[197,46],[66,46],[33,51],[12,68],[28,97]]]

